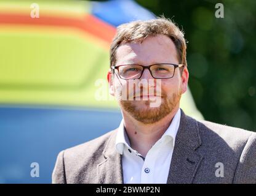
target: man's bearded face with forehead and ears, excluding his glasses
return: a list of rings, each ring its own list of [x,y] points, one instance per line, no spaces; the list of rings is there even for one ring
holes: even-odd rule
[[[148,66],[159,63],[179,64],[175,45],[167,36],[147,37],[142,43],[123,43],[116,51],[114,66],[124,64]],[[181,75],[177,68],[174,77],[155,79],[150,74],[150,70],[145,69],[139,80],[132,81],[135,84],[131,85],[129,80],[120,78],[118,70],[115,70],[113,80],[110,79],[110,94],[118,99],[123,113],[143,124],[152,124],[177,110],[180,97],[187,88],[188,70],[185,67]],[[157,97],[147,97],[152,94],[151,92]],[[136,95],[140,100],[135,100]],[[132,100],[129,97],[132,97]],[[156,102],[156,99],[160,100],[158,107],[151,107],[150,103]]]

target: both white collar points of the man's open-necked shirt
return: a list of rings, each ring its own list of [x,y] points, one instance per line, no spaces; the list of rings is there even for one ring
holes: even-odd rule
[[[178,127],[180,126],[180,108],[178,108],[177,113],[174,115],[174,118],[172,119],[172,123],[170,123],[169,127],[167,128],[166,132],[162,135],[160,138],[163,139],[165,137],[172,138],[172,144],[174,146],[175,144],[175,138],[178,132]],[[116,135],[116,150],[119,154],[122,154],[124,151],[124,145],[127,146],[127,148],[130,148],[130,141],[126,134],[126,130],[124,129],[124,119],[122,119],[119,127],[118,127],[118,133]]]

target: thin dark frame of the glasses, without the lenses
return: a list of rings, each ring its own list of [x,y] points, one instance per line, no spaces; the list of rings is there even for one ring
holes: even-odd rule
[[[152,72],[151,72],[151,70],[150,70],[150,67],[151,67],[151,66],[162,65],[162,64],[174,66],[174,74],[175,74],[176,68],[180,68],[180,67],[183,67],[183,66],[184,66],[184,64],[172,64],[172,63],[158,63],[158,64],[151,64],[151,65],[149,65],[149,66],[142,66],[142,65],[140,65],[140,64],[125,64],[125,65],[119,65],[119,66],[111,66],[111,69],[112,69],[112,70],[117,69],[117,70],[118,70],[118,75],[119,75],[119,77],[122,78],[121,75],[119,74],[119,67],[121,67],[121,66],[142,66],[142,74],[143,74],[143,72],[144,72],[145,69],[148,69],[148,70],[150,71],[151,76],[153,77]],[[124,79],[124,80],[137,80],[137,79],[140,79],[140,78],[142,77],[142,74],[140,75],[139,78],[132,78],[132,79],[129,79],[129,78],[122,78],[122,79]],[[174,77],[174,74],[172,75],[172,77],[169,77],[169,78],[173,78],[173,77]],[[169,79],[169,78],[156,78],[156,77],[153,77],[153,78],[155,78],[155,79]]]

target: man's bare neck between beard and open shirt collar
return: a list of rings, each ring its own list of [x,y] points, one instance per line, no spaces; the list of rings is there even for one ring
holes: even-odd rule
[[[154,143],[162,137],[170,126],[170,123],[172,123],[172,119],[177,113],[178,108],[179,105],[169,115],[153,124],[143,124],[123,112],[124,127],[126,127],[131,147],[142,154],[143,157],[146,157],[146,154]]]

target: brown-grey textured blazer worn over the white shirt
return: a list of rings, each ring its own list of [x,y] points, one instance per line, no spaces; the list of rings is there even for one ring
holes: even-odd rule
[[[116,132],[58,154],[52,183],[123,183]],[[256,133],[181,113],[167,183],[255,183]]]

